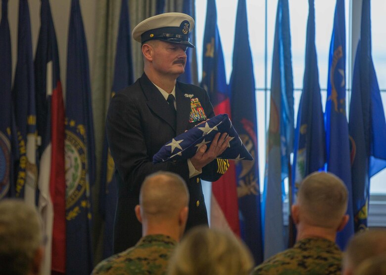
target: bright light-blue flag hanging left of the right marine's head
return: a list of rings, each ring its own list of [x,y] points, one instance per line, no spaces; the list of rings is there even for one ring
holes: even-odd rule
[[[265,166],[264,258],[284,250],[284,179],[293,145],[293,77],[288,0],[279,0],[272,57],[271,108]]]

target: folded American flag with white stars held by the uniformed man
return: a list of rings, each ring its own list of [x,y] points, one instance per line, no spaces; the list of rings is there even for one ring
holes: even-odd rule
[[[154,155],[153,163],[191,158],[201,145],[206,144],[209,149],[214,136],[218,132],[228,133],[231,140],[228,148],[217,158],[253,160],[228,115],[224,114],[215,116],[168,141]]]

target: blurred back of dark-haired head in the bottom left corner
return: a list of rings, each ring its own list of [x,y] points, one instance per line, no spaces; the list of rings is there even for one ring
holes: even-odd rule
[[[42,224],[35,207],[18,199],[0,201],[1,275],[30,274],[42,239]]]

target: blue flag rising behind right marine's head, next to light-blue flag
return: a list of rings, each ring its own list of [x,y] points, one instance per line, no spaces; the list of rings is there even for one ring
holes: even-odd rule
[[[292,166],[292,202],[301,181],[312,172],[324,169],[326,160],[325,130],[315,47],[314,0],[308,0],[309,14],[303,90],[297,113]]]

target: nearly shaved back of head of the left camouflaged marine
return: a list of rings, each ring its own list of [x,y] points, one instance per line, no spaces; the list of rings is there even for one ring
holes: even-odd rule
[[[175,219],[189,203],[185,181],[171,172],[157,172],[145,178],[140,192],[141,216],[148,221]]]

